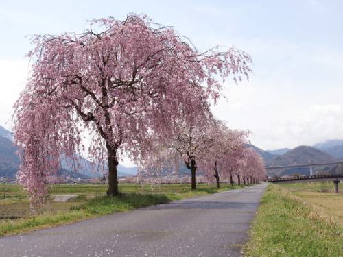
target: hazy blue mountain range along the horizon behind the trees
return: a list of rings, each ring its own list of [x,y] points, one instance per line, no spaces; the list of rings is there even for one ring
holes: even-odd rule
[[[16,155],[16,147],[12,146],[12,138],[13,134],[0,126],[0,177],[15,178],[16,171],[20,165],[19,157]],[[327,140],[324,143],[318,143],[311,147],[299,146],[294,149],[283,148],[273,151],[265,151],[255,145],[250,145],[250,147],[261,154],[266,167],[343,162],[343,140]],[[99,176],[99,173],[94,173],[92,171],[91,162],[89,160],[80,157],[80,161],[75,164],[81,164],[84,167],[79,174],[76,174],[79,177]],[[70,172],[66,162],[61,163],[61,168],[67,173]],[[97,165],[95,165],[94,168],[97,170]],[[182,171],[180,170],[180,172],[185,172],[183,169],[187,168],[182,167]],[[294,172],[302,175],[309,175],[308,168],[281,169],[276,171],[268,170],[268,175],[290,175]],[[128,168],[119,164],[118,175],[137,175],[137,167]]]

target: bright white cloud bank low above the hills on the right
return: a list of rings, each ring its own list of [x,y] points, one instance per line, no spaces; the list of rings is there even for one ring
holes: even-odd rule
[[[259,127],[254,142],[263,149],[294,148],[343,138],[343,106],[313,105],[294,111],[283,123]]]

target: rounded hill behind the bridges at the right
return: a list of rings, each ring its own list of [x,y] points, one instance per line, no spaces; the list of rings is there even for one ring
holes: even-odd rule
[[[266,167],[287,166],[293,164],[309,164],[309,163],[323,163],[323,162],[341,162],[340,158],[331,156],[330,154],[316,149],[314,147],[300,146],[296,147],[282,156],[276,156],[272,160],[265,162]],[[291,175],[292,173],[300,173],[302,175],[309,175],[309,168],[292,168],[268,170],[268,175]]]

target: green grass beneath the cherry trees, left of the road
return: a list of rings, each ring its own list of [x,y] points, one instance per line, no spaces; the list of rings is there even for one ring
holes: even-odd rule
[[[0,185],[1,186],[1,185]],[[47,204],[45,208],[38,210],[39,215],[33,215],[29,211],[29,202],[27,199],[5,199],[0,201],[1,212],[7,211],[8,215],[17,215],[21,213],[25,217],[21,219],[1,219],[0,236],[8,234],[23,234],[32,230],[49,228],[55,225],[62,225],[89,219],[101,215],[108,215],[113,212],[126,212],[135,208],[153,206],[156,204],[167,203],[197,195],[206,195],[217,193],[244,186],[230,186],[222,184],[218,190],[207,184],[198,184],[197,189],[192,191],[188,184],[163,184],[161,186],[138,184],[121,184],[119,197],[107,197],[105,194],[108,185],[61,185],[51,190],[53,195],[78,195],[73,201],[65,203]],[[18,187],[19,188],[19,187]],[[18,195],[14,187],[9,197]]]

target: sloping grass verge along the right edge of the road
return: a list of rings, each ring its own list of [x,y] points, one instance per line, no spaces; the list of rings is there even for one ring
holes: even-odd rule
[[[268,185],[245,256],[343,256],[338,219],[290,191]]]

